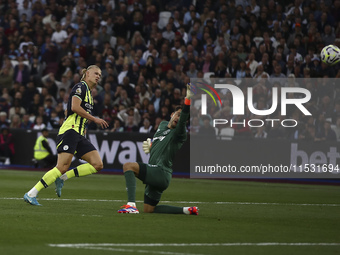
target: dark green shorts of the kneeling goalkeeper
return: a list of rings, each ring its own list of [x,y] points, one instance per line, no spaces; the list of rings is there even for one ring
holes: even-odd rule
[[[161,200],[163,191],[169,187],[172,173],[157,165],[137,163],[139,165],[138,179],[146,184],[144,203],[156,206]]]

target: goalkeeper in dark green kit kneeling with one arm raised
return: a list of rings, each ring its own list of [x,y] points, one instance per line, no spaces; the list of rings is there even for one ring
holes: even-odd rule
[[[169,214],[198,214],[198,208],[157,205],[162,193],[170,184],[172,177],[172,161],[176,152],[187,138],[186,122],[189,118],[190,98],[193,95],[191,85],[187,85],[184,107],[176,107],[170,121],[162,121],[157,132],[151,139],[143,142],[143,150],[150,153],[148,164],[134,162],[125,163],[123,171],[126,181],[128,203],[118,210],[118,213],[139,213],[136,207],[136,177],[145,186],[144,212]]]

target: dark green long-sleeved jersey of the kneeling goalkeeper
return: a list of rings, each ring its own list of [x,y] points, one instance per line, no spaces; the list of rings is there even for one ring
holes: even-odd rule
[[[187,139],[186,122],[190,106],[185,105],[176,128],[168,128],[168,121],[162,121],[152,141],[149,165],[161,166],[172,173],[172,161],[176,152]]]

